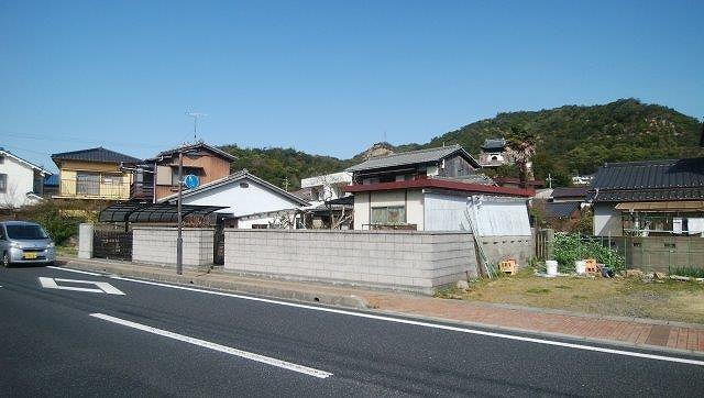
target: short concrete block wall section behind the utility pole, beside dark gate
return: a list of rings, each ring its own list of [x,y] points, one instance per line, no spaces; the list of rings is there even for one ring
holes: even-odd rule
[[[135,226],[132,229],[132,261],[176,266],[176,228]],[[200,228],[183,229],[184,265],[212,264],[215,231]]]

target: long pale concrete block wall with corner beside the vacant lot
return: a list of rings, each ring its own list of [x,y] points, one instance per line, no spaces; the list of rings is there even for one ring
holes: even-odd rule
[[[224,269],[432,294],[475,277],[466,232],[226,230]]]

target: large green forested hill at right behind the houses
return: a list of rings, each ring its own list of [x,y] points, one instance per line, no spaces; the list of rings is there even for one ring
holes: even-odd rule
[[[437,136],[424,146],[462,144],[479,153],[485,139],[502,136],[510,126],[538,139],[534,167],[565,184],[574,172],[590,174],[605,162],[702,156],[701,123],[673,109],[622,99],[603,106],[564,106],[535,112],[507,112]]]

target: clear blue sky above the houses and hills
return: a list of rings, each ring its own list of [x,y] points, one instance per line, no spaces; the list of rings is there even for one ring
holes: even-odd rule
[[[193,139],[351,157],[497,112],[635,97],[704,115],[704,1],[0,0],[0,146]]]

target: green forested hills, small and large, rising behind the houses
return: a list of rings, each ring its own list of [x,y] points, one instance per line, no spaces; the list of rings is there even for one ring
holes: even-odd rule
[[[564,106],[499,113],[436,136],[426,144],[392,146],[381,143],[375,148],[404,152],[459,143],[474,155],[485,139],[506,135],[512,126],[526,129],[538,137],[534,158],[536,177],[544,178],[551,174],[559,184],[566,184],[574,172],[593,173],[605,162],[704,155],[704,150],[698,146],[702,126],[696,119],[635,99],[603,106]],[[222,148],[238,156],[232,169],[248,168],[280,187],[287,181],[289,190],[299,187],[300,178],[339,172],[364,157],[364,154],[359,154],[344,161],[292,148],[240,148],[237,145]],[[502,173],[515,170],[507,168]]]

